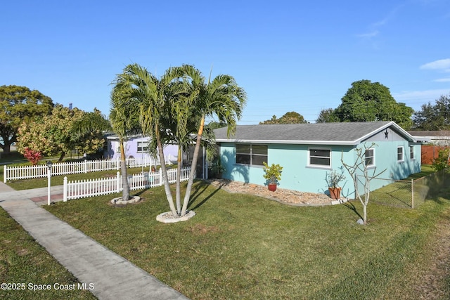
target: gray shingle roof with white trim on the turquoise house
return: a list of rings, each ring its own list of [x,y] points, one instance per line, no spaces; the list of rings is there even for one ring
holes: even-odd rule
[[[356,145],[390,126],[413,141],[409,133],[390,121],[238,125],[236,134],[229,138],[226,128],[216,129],[214,133],[217,142]]]

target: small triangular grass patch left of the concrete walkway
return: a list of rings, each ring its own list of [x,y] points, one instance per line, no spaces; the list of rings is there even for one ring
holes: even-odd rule
[[[54,289],[55,284],[77,285],[78,280],[4,209],[0,209],[0,282],[11,284],[2,286],[0,299],[95,299],[86,290]],[[51,285],[51,291],[33,290],[34,285]]]

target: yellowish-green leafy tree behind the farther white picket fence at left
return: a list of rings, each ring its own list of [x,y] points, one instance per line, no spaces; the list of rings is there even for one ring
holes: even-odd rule
[[[63,105],[55,105],[51,115],[23,122],[18,129],[18,152],[24,153],[25,148],[30,148],[44,155],[60,154],[60,162],[74,149],[87,154],[97,152],[105,141],[101,130],[77,133],[74,128],[74,124],[85,115],[86,112],[77,107],[70,110]]]

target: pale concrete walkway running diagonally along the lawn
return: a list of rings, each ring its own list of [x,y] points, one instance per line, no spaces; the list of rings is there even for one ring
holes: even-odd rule
[[[0,206],[98,299],[188,299],[141,268],[50,214],[47,188],[15,191],[0,183]],[[63,199],[62,186],[51,201]]]

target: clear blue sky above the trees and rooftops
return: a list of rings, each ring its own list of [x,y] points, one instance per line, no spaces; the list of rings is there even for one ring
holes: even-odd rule
[[[164,2],[164,3],[162,3]],[[450,1],[5,1],[0,85],[105,115],[111,81],[139,63],[230,74],[239,124],[295,111],[309,122],[352,82],[387,86],[414,110],[450,94]]]

